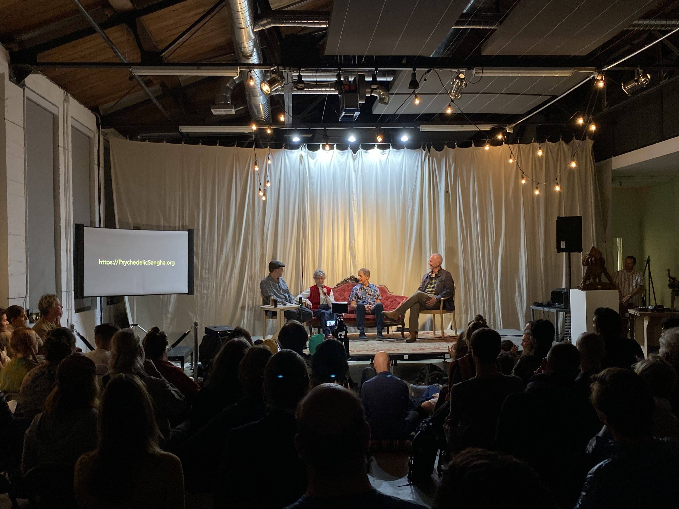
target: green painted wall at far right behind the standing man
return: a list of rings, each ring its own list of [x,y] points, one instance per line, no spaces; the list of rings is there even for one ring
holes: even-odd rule
[[[679,278],[679,181],[644,187],[617,187],[614,183],[612,236],[623,239],[624,256],[636,257],[638,271],[650,256],[657,301],[669,307],[667,269]],[[616,267],[612,260],[611,274]],[[653,303],[650,293],[649,297]]]

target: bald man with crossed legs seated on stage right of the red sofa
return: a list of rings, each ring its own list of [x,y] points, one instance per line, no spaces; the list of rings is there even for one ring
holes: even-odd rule
[[[455,309],[455,282],[453,276],[447,270],[443,270],[441,264],[443,257],[434,253],[429,257],[429,271],[422,276],[420,288],[407,299],[403,304],[393,311],[385,311],[384,316],[391,320],[397,320],[399,316],[405,316],[405,312],[410,309],[410,319],[408,330],[410,331],[406,343],[412,343],[418,339],[420,330],[420,311],[422,309],[439,309],[441,299],[445,311]]]

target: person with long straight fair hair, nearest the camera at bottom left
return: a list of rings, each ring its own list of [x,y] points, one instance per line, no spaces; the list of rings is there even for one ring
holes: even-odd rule
[[[80,509],[184,508],[181,462],[158,447],[161,436],[153,405],[138,377],[111,377],[101,401],[98,431],[96,450],[82,455],[75,465]]]

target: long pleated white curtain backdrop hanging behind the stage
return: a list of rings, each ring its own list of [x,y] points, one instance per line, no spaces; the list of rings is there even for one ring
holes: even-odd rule
[[[266,149],[111,139],[118,227],[196,230],[194,296],[132,298],[135,322],[181,333],[198,320],[261,334],[259,280],[286,264],[297,295],[321,267],[333,285],[358,269],[393,293],[416,290],[430,253],[456,281],[458,325],[481,313],[519,328],[533,301],[566,282],[559,215],[583,216],[583,249],[603,242],[591,141],[512,145],[541,183],[521,185],[507,145],[426,152],[272,150],[267,200],[257,194]],[[568,166],[576,151],[578,167]],[[561,192],[554,190],[562,172]],[[582,276],[574,254],[573,283]],[[462,325],[460,325],[462,326]]]

